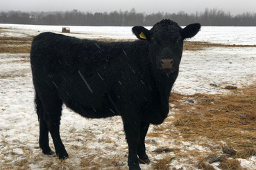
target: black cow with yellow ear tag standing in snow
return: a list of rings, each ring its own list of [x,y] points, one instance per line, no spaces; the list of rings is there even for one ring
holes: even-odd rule
[[[31,68],[40,148],[53,154],[49,131],[60,159],[68,158],[60,139],[62,104],[89,118],[120,115],[128,142],[128,166],[148,163],[145,136],[149,124],[169,113],[169,96],[178,76],[183,40],[200,24],[180,28],[169,19],[151,30],[133,27],[139,39],[106,43],[44,32],[33,39]],[[138,159],[139,158],[139,159]]]

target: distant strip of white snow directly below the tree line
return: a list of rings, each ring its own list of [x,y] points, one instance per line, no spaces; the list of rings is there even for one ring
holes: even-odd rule
[[[26,37],[27,35],[37,35],[40,32],[61,32],[62,26],[34,26],[0,24],[1,28],[11,28],[10,32],[2,33],[1,36],[9,35],[15,37]],[[110,38],[110,39],[136,39],[132,34],[132,27],[112,27],[112,26],[66,26],[71,32],[66,34],[83,38]],[[151,27],[146,27],[150,29]],[[256,27],[202,27],[201,31],[189,41],[208,41],[220,44],[241,44],[256,45]]]

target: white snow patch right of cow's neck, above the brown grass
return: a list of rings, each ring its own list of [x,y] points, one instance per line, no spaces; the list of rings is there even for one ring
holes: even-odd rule
[[[218,86],[246,86],[256,79],[255,48],[209,48],[185,51],[173,91],[177,93],[223,93]]]

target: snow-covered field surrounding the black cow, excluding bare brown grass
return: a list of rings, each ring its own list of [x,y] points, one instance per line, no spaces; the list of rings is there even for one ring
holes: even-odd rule
[[[5,28],[0,31],[0,37],[28,37],[45,31],[60,32],[62,27],[0,24],[0,28]],[[72,33],[67,35],[82,39],[135,39],[131,27],[70,26],[70,29]],[[203,27],[196,37],[188,41],[256,45],[255,30],[255,27]],[[173,92],[185,95],[228,93],[221,87],[231,85],[241,88],[255,84],[255,66],[256,47],[223,46],[185,50]],[[59,162],[57,157],[43,155],[38,147],[39,124],[33,98],[29,54],[0,53],[0,169],[10,169],[12,166],[13,169],[20,168],[25,157],[25,169],[45,169],[46,164],[49,164],[49,169],[54,169]],[[99,164],[103,160],[114,160],[119,165],[118,169],[127,169],[128,147],[120,117],[88,120],[67,108],[62,113],[60,135],[69,153],[69,159],[62,169],[79,169],[77,165],[88,159],[88,162]],[[153,126],[150,131],[153,131]],[[51,139],[50,143],[54,149]],[[164,156],[152,152],[157,148],[178,148],[185,152],[188,146],[202,153],[209,152],[209,149],[193,143],[180,141],[177,145],[171,138],[146,138],[146,149],[152,162]],[[196,169],[195,164],[186,164],[185,160],[173,160],[170,165],[176,169]],[[151,164],[140,166],[151,169]],[[256,158],[241,159],[241,165],[246,169],[256,169]],[[110,163],[101,169],[116,167]]]

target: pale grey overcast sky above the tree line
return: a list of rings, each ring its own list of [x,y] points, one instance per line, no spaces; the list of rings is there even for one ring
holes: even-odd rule
[[[256,12],[256,0],[0,0],[0,10],[111,12],[135,8],[137,12],[187,13],[218,8],[232,15]]]

